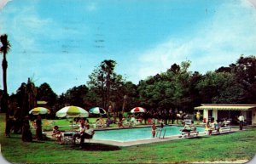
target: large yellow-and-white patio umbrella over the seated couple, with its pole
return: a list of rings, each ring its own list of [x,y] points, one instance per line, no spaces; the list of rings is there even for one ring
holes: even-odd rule
[[[83,108],[79,107],[79,106],[66,106],[64,108],[61,108],[61,110],[58,110],[56,112],[56,116],[57,117],[88,117],[89,113],[88,111],[84,110]],[[71,129],[73,131],[73,120],[72,120],[72,124],[71,124]]]

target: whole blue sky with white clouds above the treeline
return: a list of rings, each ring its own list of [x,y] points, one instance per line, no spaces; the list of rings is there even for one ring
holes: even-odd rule
[[[11,50],[8,92],[31,77],[57,94],[104,59],[137,84],[190,60],[204,74],[256,54],[255,0],[0,0]],[[0,45],[1,46],[1,45]],[[2,69],[0,69],[2,75]],[[3,89],[0,76],[0,88]]]

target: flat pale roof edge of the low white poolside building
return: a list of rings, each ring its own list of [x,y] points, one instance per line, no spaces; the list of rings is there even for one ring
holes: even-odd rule
[[[253,110],[256,105],[205,105],[197,106],[194,110]]]

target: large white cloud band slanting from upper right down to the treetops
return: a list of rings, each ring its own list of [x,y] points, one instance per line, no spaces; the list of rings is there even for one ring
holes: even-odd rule
[[[194,37],[171,38],[142,53],[139,78],[166,71],[174,63],[189,59],[191,71],[214,71],[236,62],[241,54],[256,53],[256,10],[248,3],[223,4],[212,20],[198,25]]]

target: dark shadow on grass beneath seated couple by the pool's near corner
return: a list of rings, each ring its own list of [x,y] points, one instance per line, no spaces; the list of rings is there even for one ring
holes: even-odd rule
[[[109,144],[97,144],[97,143],[84,143],[82,147],[79,144],[72,145],[71,148],[75,150],[84,151],[115,151],[121,150],[119,146],[113,146]]]

